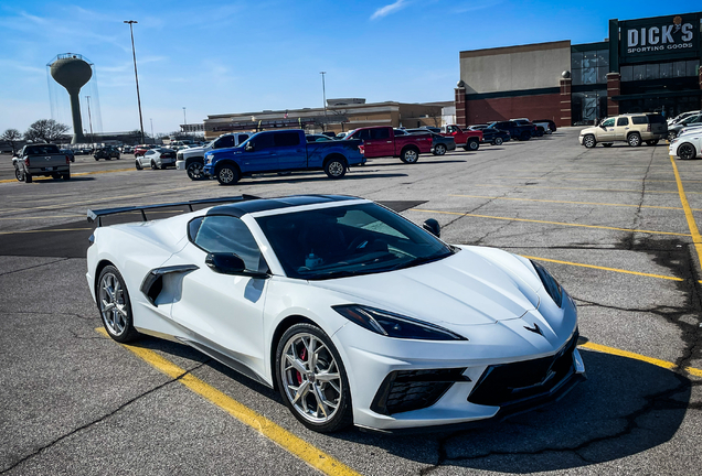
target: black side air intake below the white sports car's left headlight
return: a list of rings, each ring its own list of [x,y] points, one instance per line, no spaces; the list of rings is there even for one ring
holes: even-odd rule
[[[469,381],[465,368],[395,370],[383,380],[371,410],[381,414],[401,413],[432,407],[457,381]]]

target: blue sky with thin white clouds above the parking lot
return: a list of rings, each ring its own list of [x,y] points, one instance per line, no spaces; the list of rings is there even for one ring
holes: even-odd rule
[[[103,131],[138,129],[124,20],[139,22],[143,126],[159,133],[178,129],[183,107],[188,122],[321,107],[321,71],[327,98],[453,100],[460,51],[597,42],[611,18],[699,10],[699,0],[0,0],[0,132],[51,118],[45,65],[68,52],[95,64]]]

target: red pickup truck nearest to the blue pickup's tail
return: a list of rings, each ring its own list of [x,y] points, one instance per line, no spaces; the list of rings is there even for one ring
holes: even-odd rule
[[[359,145],[366,159],[398,156],[404,163],[415,163],[421,153],[432,151],[432,134],[408,134],[395,137],[391,127],[377,126],[359,128],[347,134],[344,140],[361,139]]]

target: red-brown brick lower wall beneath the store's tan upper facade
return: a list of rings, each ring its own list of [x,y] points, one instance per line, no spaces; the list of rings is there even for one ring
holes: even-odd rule
[[[456,113],[458,116],[458,108]],[[571,126],[570,122],[563,123],[561,119],[560,94],[466,101],[467,125],[524,117],[529,119],[551,119],[557,127]]]

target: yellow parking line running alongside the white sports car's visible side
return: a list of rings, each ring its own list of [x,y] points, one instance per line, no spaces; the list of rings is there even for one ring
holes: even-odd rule
[[[107,332],[98,327],[95,331],[107,337]],[[188,387],[200,397],[214,403],[242,423],[256,430],[262,435],[277,443],[283,450],[291,453],[302,459],[308,465],[327,475],[355,476],[359,473],[341,463],[333,456],[325,453],[312,444],[296,436],[289,431],[277,425],[264,415],[240,403],[227,394],[221,392],[214,387],[203,382],[199,378],[188,374],[185,369],[177,366],[170,360],[164,359],[153,350],[145,349],[138,346],[120,344],[123,347],[131,350],[137,357],[146,360],[158,371],[166,374],[172,379],[178,379],[182,385]]]

